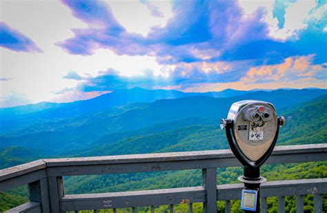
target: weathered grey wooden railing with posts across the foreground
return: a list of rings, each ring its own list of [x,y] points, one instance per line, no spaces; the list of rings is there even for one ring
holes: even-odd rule
[[[326,161],[327,144],[279,146],[269,163],[302,163]],[[230,150],[132,154],[86,158],[42,159],[0,170],[0,192],[28,184],[30,202],[8,212],[67,212],[187,203],[204,203],[204,212],[217,212],[217,201],[240,199],[242,184],[217,185],[216,169],[239,166]],[[63,176],[88,174],[121,174],[201,169],[203,185],[163,190],[110,192],[97,194],[65,194]],[[268,181],[261,187],[261,212],[267,212],[266,198],[278,196],[279,212],[285,212],[285,196],[296,196],[297,212],[303,212],[303,196],[314,194],[315,212],[322,212],[322,194],[327,193],[327,179]]]

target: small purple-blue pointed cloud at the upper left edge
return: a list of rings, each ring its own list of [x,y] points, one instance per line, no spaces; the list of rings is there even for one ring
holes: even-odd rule
[[[22,52],[43,52],[34,41],[0,21],[0,47]]]

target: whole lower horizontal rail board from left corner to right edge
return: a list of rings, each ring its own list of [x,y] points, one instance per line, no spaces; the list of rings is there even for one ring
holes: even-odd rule
[[[241,198],[243,187],[243,183],[217,185],[217,200],[238,200]],[[263,197],[326,194],[327,179],[269,181],[262,183],[260,193]],[[77,211],[203,203],[205,201],[206,191],[204,187],[199,186],[135,192],[68,194],[61,199],[61,207],[64,211]]]

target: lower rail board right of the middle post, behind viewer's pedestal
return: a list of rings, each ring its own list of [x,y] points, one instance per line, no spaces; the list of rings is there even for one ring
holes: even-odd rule
[[[220,201],[241,199],[243,183],[217,185],[217,197]],[[302,179],[287,181],[268,181],[262,183],[260,196],[293,196],[304,194],[326,194],[327,179]]]

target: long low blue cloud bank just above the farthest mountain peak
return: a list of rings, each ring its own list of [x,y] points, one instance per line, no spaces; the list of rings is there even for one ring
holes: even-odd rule
[[[164,65],[160,72],[152,70],[138,75],[125,76],[112,68],[99,72],[96,77],[84,77],[77,85],[83,92],[112,91],[123,88],[179,88],[184,90],[197,83],[217,83],[239,81],[242,77],[239,67],[250,68],[248,61],[237,63],[194,62]],[[66,90],[61,91],[65,92]]]

